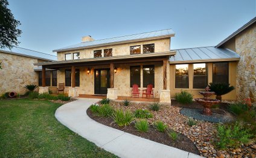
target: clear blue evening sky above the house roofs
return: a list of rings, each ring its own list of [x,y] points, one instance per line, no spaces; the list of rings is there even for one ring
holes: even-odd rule
[[[215,46],[256,16],[256,0],[8,0],[21,22],[19,47],[53,49],[171,28],[171,49]]]

